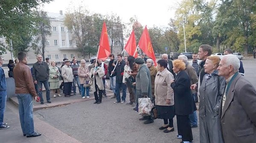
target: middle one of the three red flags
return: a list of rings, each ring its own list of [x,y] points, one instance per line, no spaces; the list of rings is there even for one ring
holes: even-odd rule
[[[138,57],[138,52],[137,52],[137,46],[136,46],[136,40],[135,40],[135,34],[134,31],[131,32],[131,35],[125,45],[125,51],[127,51],[127,53],[131,56],[135,55],[134,57]]]

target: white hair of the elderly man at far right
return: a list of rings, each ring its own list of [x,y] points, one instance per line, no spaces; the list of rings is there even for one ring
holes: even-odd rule
[[[239,71],[240,68],[240,60],[234,54],[226,54],[222,57],[225,60],[225,64],[227,66],[232,65],[234,67],[233,72]]]

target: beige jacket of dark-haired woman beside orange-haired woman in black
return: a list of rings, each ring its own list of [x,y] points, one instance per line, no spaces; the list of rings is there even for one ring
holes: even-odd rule
[[[171,87],[171,80],[174,80],[174,77],[172,73],[168,71],[168,69],[164,69],[163,72],[157,72],[154,82],[154,95],[156,105],[174,105],[174,92]],[[171,100],[171,103],[167,104],[166,99]]]

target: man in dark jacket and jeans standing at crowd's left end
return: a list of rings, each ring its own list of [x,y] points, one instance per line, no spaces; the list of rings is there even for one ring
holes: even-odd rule
[[[46,62],[42,61],[42,55],[38,54],[36,56],[36,59],[38,60],[36,63],[33,64],[33,70],[32,70],[32,76],[35,84],[38,84],[39,88],[39,97],[41,104],[44,104],[44,99],[42,95],[42,85],[44,84],[45,90],[46,90],[46,98],[47,103],[52,103],[50,101],[50,89],[49,89],[49,67]]]

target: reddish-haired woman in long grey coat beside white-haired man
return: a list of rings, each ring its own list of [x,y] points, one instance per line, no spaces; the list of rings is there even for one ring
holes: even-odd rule
[[[218,56],[207,57],[205,74],[200,86],[199,125],[200,143],[224,143],[221,132],[221,96],[225,89],[225,78],[218,76]]]

